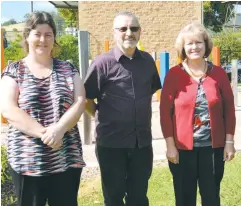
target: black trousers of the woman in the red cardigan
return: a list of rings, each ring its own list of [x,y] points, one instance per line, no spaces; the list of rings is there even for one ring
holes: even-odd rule
[[[173,175],[176,206],[196,206],[197,184],[202,206],[220,206],[223,148],[179,150],[179,164],[169,162],[169,168]]]

